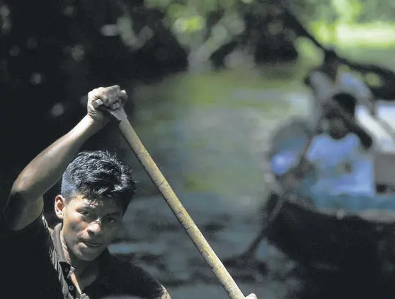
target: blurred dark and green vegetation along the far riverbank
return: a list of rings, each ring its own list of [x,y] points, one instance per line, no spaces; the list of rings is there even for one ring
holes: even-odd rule
[[[1,177],[68,131],[97,86],[126,88],[140,115],[137,95],[176,98],[170,111],[226,86],[287,90],[323,57],[300,24],[344,57],[391,68],[394,14],[394,1],[374,0],[0,0]]]

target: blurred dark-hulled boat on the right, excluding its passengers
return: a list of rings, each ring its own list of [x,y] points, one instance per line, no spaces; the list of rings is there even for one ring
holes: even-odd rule
[[[380,110],[380,109],[379,109]],[[381,110],[388,110],[383,105]],[[392,110],[395,115],[395,107]],[[380,114],[380,113],[379,113]],[[395,145],[380,123],[366,119],[364,107],[356,118],[374,137],[374,180],[377,192],[369,199],[345,202],[342,206],[317,206],[318,199],[271,193],[264,211],[264,237],[299,264],[320,271],[369,269],[377,277],[395,278]],[[391,114],[390,114],[391,115]],[[376,127],[374,127],[376,126]],[[300,154],[309,138],[309,124],[296,119],[280,127],[273,136],[268,160],[276,153]],[[273,172],[265,174],[273,184]],[[311,186],[311,185],[310,185]],[[309,183],[307,186],[309,188]],[[327,199],[336,200],[335,197]],[[328,202],[326,201],[326,202]],[[369,264],[369,265],[367,265]],[[384,275],[384,276],[383,276]]]

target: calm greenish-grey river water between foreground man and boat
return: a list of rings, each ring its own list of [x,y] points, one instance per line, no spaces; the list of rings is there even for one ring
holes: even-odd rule
[[[260,229],[270,134],[290,117],[311,112],[300,78],[284,66],[179,74],[137,86],[133,98],[134,129],[207,241],[220,259],[241,253]],[[119,142],[139,190],[110,250],[142,265],[175,299],[227,298],[130,149]],[[290,276],[294,264],[272,246],[258,256],[270,260],[268,268],[229,269],[236,283],[246,295],[285,298],[298,284]]]

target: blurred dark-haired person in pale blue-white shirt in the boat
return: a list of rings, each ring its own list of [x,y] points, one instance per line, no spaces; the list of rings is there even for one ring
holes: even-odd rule
[[[314,137],[307,152],[307,160],[316,170],[315,198],[321,194],[372,196],[373,164],[366,153],[372,139],[336,110],[326,108],[324,119],[326,131]]]

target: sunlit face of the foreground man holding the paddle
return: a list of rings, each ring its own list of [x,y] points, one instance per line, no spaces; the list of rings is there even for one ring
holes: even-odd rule
[[[91,201],[78,196],[64,204],[64,198],[57,197],[55,209],[63,221],[67,250],[78,259],[96,259],[118,235],[122,209],[113,199]]]

